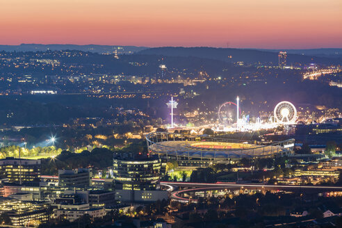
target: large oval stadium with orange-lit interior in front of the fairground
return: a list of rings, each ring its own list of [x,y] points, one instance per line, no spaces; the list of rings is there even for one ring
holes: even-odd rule
[[[294,139],[266,143],[168,132],[149,133],[146,141],[150,153],[176,160],[182,166],[234,163],[241,158],[286,156],[293,153],[295,145]]]

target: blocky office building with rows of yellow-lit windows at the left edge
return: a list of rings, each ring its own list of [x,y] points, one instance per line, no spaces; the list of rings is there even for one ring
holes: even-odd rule
[[[40,181],[40,160],[7,157],[0,160],[0,178],[10,183]]]

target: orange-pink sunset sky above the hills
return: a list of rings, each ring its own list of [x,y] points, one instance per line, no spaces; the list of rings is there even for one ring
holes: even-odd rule
[[[0,44],[342,48],[341,0],[0,0]]]

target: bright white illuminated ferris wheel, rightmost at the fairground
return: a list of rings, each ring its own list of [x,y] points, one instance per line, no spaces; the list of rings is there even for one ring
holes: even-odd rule
[[[275,106],[274,115],[279,124],[292,124],[297,119],[297,110],[290,102],[282,101]]]

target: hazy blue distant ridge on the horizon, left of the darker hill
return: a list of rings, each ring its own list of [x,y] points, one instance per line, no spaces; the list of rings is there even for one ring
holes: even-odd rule
[[[120,48],[120,49],[118,49]],[[147,47],[136,46],[111,46],[111,45],[76,45],[76,44],[20,44],[20,45],[0,45],[0,51],[61,51],[61,50],[78,50],[90,51],[94,53],[111,53],[113,51],[120,52],[120,54],[132,54],[137,51],[147,49]]]

